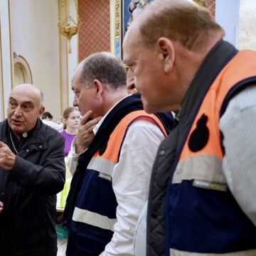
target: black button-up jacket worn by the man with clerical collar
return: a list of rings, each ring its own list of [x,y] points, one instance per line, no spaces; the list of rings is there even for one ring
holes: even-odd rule
[[[4,120],[0,141],[18,151],[11,171],[0,168],[0,255],[56,255],[55,194],[65,183],[65,139],[38,119],[17,144]]]

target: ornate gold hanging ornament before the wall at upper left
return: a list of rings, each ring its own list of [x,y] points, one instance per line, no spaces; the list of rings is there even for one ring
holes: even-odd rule
[[[68,53],[71,53],[70,39],[78,33],[81,26],[80,18],[78,16],[78,4],[76,1],[77,0],[74,0],[77,22],[70,16],[70,1],[60,0],[58,28],[59,32],[68,39]]]

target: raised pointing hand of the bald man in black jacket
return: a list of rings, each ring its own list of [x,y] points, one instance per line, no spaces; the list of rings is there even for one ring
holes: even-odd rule
[[[9,146],[4,144],[4,142],[0,142],[0,167],[6,171],[10,171],[14,167],[15,159],[16,156],[9,149]]]

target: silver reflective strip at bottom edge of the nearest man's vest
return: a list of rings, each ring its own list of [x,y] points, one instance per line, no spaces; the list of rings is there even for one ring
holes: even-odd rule
[[[256,250],[228,252],[228,253],[202,253],[202,252],[184,252],[180,250],[170,249],[170,256],[255,256],[255,255],[256,255]]]

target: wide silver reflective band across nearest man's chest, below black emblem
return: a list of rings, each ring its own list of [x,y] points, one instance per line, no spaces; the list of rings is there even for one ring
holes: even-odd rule
[[[198,179],[215,183],[226,183],[222,170],[223,161],[217,156],[191,156],[179,161],[172,183]]]

